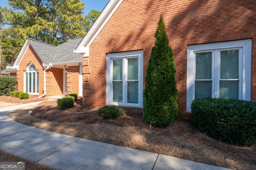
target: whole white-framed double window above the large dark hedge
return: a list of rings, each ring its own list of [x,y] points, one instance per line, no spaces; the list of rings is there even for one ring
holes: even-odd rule
[[[194,99],[250,100],[251,40],[188,46],[187,111]]]

